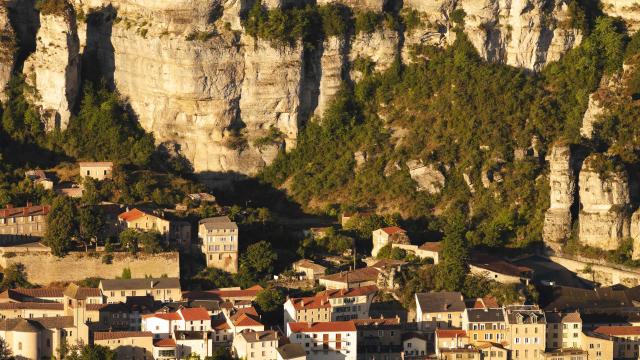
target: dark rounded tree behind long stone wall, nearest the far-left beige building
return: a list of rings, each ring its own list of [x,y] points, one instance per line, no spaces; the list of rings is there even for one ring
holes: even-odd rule
[[[76,219],[77,210],[71,199],[58,196],[53,200],[47,216],[44,243],[55,256],[64,256],[71,249],[72,239],[77,233]]]

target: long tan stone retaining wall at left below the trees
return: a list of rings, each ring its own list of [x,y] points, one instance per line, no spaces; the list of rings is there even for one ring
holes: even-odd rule
[[[15,254],[15,255],[14,255]],[[155,255],[112,253],[111,264],[104,264],[104,253],[71,253],[63,258],[48,253],[14,253],[11,257],[0,256],[3,268],[13,263],[25,266],[28,280],[33,284],[46,285],[54,281],[78,281],[88,277],[113,279],[122,275],[125,268],[131,276],[180,277],[180,256],[177,252]]]

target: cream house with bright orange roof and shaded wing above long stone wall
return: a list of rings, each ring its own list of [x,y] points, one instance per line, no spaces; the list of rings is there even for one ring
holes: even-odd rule
[[[191,224],[183,220],[170,220],[164,212],[144,212],[134,208],[118,215],[118,222],[121,230],[156,231],[169,244],[182,249],[191,247]]]

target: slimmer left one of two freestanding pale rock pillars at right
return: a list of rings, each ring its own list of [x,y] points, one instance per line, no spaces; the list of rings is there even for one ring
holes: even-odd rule
[[[542,237],[545,244],[558,250],[571,235],[571,206],[575,197],[575,175],[571,148],[555,145],[547,156],[549,162],[550,206],[544,215]]]

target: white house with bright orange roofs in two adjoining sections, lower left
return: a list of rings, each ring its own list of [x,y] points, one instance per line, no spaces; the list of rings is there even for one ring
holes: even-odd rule
[[[211,317],[205,308],[182,308],[173,313],[143,316],[142,329],[156,339],[169,338],[176,330],[211,331]]]

